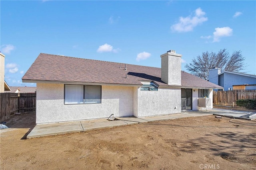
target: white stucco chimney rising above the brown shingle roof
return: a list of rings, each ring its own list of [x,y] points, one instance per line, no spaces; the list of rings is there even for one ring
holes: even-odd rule
[[[161,80],[168,85],[181,85],[181,54],[170,50],[161,56]]]

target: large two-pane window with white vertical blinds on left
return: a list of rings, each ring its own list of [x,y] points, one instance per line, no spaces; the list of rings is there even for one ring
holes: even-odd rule
[[[65,85],[64,104],[101,103],[100,85]]]

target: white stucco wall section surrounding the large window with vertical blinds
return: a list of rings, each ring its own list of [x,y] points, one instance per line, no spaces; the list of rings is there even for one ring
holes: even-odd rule
[[[64,105],[64,84],[37,83],[36,123],[133,115],[133,87],[102,86],[102,103]]]

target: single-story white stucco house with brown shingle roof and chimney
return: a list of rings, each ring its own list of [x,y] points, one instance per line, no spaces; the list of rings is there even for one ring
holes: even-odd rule
[[[168,51],[161,68],[40,53],[22,77],[36,83],[36,123],[114,117],[146,117],[212,108],[222,87],[181,71],[181,57]]]

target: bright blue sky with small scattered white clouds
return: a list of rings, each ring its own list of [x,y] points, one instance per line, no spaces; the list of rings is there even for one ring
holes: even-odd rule
[[[242,51],[256,74],[256,1],[0,1],[0,47],[9,86],[40,53],[161,67],[170,49],[186,63],[205,51]],[[76,68],[74,68],[76,69]]]

